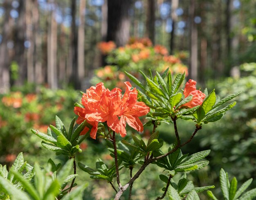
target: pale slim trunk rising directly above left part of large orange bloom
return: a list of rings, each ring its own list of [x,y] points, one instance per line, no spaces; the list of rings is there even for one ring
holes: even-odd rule
[[[79,28],[78,28],[78,80],[79,89],[83,86],[83,80],[85,78],[85,66],[84,66],[84,40],[85,40],[85,0],[80,0],[79,7]]]

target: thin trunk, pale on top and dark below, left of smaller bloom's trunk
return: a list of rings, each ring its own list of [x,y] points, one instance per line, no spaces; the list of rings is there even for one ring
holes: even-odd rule
[[[178,8],[179,0],[171,0],[171,18],[172,18],[172,31],[171,31],[171,40],[170,40],[170,54],[174,53],[174,38],[175,38],[175,25],[178,20],[176,14],[176,9]]]

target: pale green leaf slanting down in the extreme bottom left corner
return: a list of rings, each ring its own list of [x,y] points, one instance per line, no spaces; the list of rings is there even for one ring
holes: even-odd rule
[[[31,200],[27,193],[14,187],[13,184],[2,176],[0,176],[0,186],[15,200]]]

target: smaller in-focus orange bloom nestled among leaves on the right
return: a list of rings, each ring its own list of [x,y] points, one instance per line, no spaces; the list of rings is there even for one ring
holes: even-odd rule
[[[186,82],[183,94],[186,97],[188,97],[189,95],[192,95],[193,98],[190,102],[187,102],[185,104],[183,104],[182,106],[186,106],[189,108],[193,108],[195,106],[201,105],[204,98],[205,98],[205,94],[202,93],[200,90],[197,90],[195,87],[196,81],[195,80],[191,80],[189,79],[188,82]]]

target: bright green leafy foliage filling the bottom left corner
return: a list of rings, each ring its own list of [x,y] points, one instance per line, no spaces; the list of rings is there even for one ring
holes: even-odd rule
[[[82,199],[81,193],[85,186],[81,186],[78,191],[72,191],[69,195],[64,190],[67,183],[73,180],[74,176],[70,175],[72,169],[72,160],[62,167],[56,174],[59,164],[56,166],[49,159],[47,167],[41,169],[37,163],[34,166],[24,162],[23,154],[20,153],[10,171],[7,171],[6,165],[0,165],[0,198],[17,199],[17,200],[55,200],[56,197],[63,199],[72,199],[76,194],[76,199]]]

